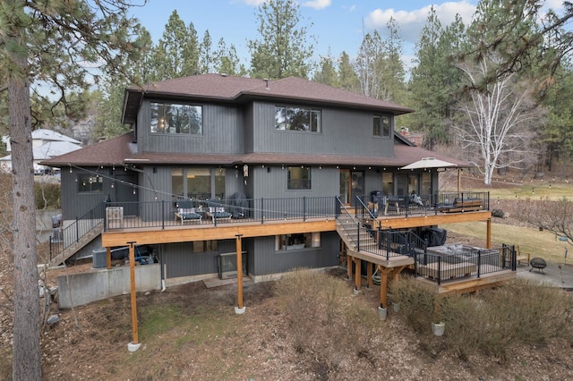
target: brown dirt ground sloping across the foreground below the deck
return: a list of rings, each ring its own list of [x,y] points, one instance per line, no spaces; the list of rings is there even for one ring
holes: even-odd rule
[[[511,203],[503,208],[511,215]],[[520,224],[511,217],[507,224]],[[449,237],[460,241],[463,237]],[[483,242],[467,238],[471,244]],[[9,258],[3,258],[9,259]],[[11,379],[12,290],[11,267],[0,264],[0,380]],[[8,261],[9,263],[9,261]],[[65,272],[89,271],[91,263],[47,272],[47,286]],[[344,269],[332,274],[345,278]],[[353,284],[348,282],[348,292]],[[356,295],[372,302],[377,314],[379,286]],[[207,288],[203,282],[170,287],[164,292],[138,294],[139,320],[148,309],[165,309],[158,323],[169,329],[140,333],[140,351],[127,351],[132,341],[130,296],[98,301],[77,309],[58,310],[53,304],[47,315],[60,318],[55,325],[43,327],[41,337],[43,376],[46,380],[566,380],[573,379],[573,343],[553,341],[546,346],[514,348],[509,359],[475,356],[460,360],[455,353],[435,346],[422,349],[416,335],[406,328],[399,312],[389,310],[381,325],[391,332],[385,341],[372,348],[369,356],[346,353],[336,371],[321,367],[321,359],[309,352],[296,351],[287,334],[284,316],[273,296],[273,283],[244,284],[244,315],[235,315],[235,284]],[[171,312],[172,308],[174,311]],[[215,337],[201,336],[204,326],[217,327],[218,318],[201,320],[215,309],[227,326],[220,326]],[[180,316],[182,314],[182,316]],[[217,316],[216,314],[216,316]],[[181,331],[172,321],[184,322]],[[170,326],[173,325],[173,326]],[[192,331],[192,332],[191,332]],[[212,332],[209,331],[209,332]],[[192,335],[192,340],[185,337]],[[319,337],[333,340],[337,337]],[[344,344],[340,344],[344,345]],[[344,352],[344,350],[341,350]]]

